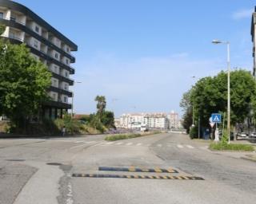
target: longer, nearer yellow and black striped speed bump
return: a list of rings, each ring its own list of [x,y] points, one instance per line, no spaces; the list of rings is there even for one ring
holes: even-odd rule
[[[87,178],[117,178],[117,179],[171,179],[171,180],[204,180],[198,176],[170,176],[170,175],[99,175],[99,174],[73,174],[72,177]]]

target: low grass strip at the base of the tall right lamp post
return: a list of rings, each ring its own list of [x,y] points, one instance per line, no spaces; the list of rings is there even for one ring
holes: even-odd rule
[[[252,145],[242,143],[210,143],[210,149],[220,151],[254,151],[254,147]]]

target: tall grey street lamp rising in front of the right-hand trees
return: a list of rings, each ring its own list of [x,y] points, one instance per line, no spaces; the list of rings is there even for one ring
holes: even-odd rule
[[[227,47],[227,135],[230,143],[230,42],[213,40],[214,44],[226,44]]]

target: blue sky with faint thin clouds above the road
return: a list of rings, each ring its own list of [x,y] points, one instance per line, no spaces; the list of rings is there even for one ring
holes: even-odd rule
[[[250,0],[16,0],[78,45],[74,112],[96,111],[106,96],[115,116],[182,114],[182,94],[202,77],[231,68],[252,70]]]

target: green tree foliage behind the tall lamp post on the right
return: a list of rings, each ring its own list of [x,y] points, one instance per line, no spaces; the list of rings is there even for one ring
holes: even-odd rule
[[[213,112],[226,112],[227,108],[227,74],[218,73],[215,77],[204,77],[185,93],[181,101],[185,109],[185,119],[189,117],[190,108],[194,108],[194,120],[202,127],[209,127],[209,117]],[[185,102],[184,102],[185,100]],[[231,124],[243,123],[256,112],[256,83],[254,77],[246,70],[234,70],[230,73],[230,119]],[[186,129],[188,123],[186,122]]]

